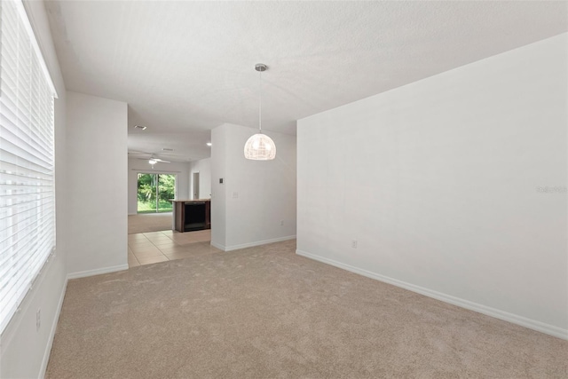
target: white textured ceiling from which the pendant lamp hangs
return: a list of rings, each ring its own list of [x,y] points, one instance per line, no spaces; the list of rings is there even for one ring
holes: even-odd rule
[[[296,120],[565,32],[566,2],[46,2],[67,89],[129,104],[129,150]],[[134,130],[135,124],[145,131]],[[172,157],[170,157],[172,158]]]

